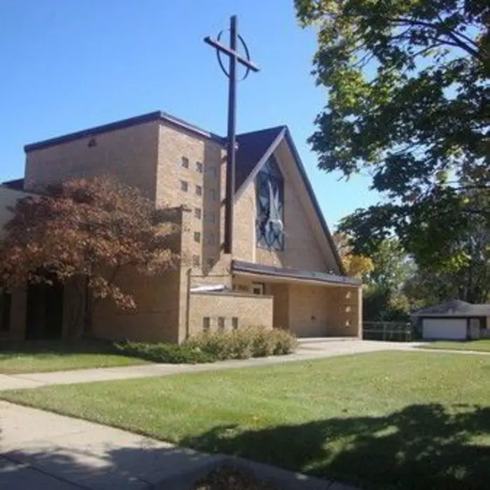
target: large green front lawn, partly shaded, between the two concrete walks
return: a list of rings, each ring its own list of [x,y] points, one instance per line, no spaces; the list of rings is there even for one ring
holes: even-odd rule
[[[490,481],[486,356],[370,353],[0,397],[368,487]]]

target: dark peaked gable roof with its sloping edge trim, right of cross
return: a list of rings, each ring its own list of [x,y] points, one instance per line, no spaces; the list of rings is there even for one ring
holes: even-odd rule
[[[237,151],[235,169],[235,200],[237,200],[241,193],[243,193],[246,186],[255,179],[255,176],[260,172],[260,169],[262,169],[265,162],[267,162],[270,155],[274,153],[283,139],[286,139],[291,154],[293,155],[293,160],[298,172],[300,172],[302,183],[307,190],[309,200],[314,208],[318,221],[320,222],[323,234],[330,245],[335,262],[337,262],[337,267],[339,267],[339,271],[342,274],[345,274],[339,251],[337,250],[337,246],[328,229],[320,204],[318,204],[318,200],[316,199],[316,195],[311,187],[304,165],[302,164],[300,154],[297,152],[297,148],[287,126],[271,127],[267,130],[244,133],[237,136],[239,148]]]

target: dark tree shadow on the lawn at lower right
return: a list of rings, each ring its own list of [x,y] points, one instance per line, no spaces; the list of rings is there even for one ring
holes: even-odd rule
[[[181,444],[377,488],[487,489],[490,407],[451,408],[410,405],[242,433],[222,426]]]

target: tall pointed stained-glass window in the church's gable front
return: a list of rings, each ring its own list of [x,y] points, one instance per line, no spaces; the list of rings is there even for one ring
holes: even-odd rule
[[[284,179],[274,157],[255,179],[257,214],[255,231],[261,248],[284,248]]]

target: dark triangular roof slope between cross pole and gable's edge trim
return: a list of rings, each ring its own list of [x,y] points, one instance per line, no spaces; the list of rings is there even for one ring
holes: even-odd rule
[[[286,126],[276,126],[269,127],[267,130],[237,135],[238,150],[235,167],[235,190],[241,188],[265,152],[285,129]]]

